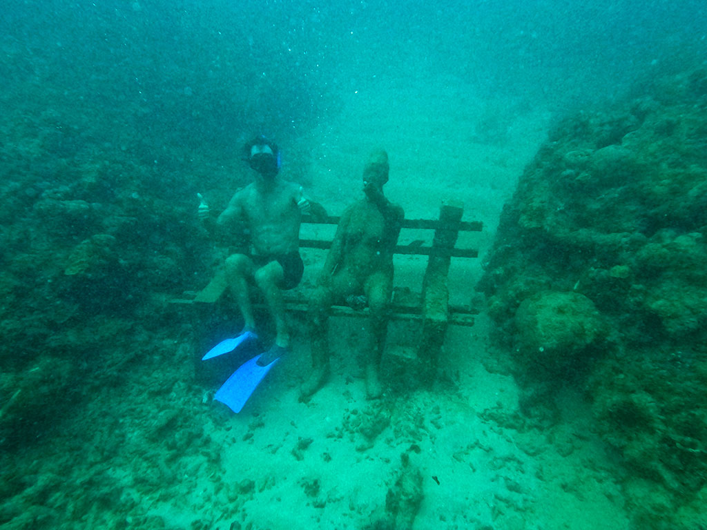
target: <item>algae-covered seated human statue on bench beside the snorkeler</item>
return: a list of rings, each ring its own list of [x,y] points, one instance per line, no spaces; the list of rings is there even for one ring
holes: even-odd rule
[[[380,396],[379,369],[392,295],[393,252],[404,212],[383,194],[388,181],[385,151],[371,153],[363,170],[363,199],[346,208],[317,278],[309,305],[312,367],[300,399],[306,400],[329,377],[329,309],[334,303],[366,303],[369,316],[363,326],[366,341],[366,393]]]

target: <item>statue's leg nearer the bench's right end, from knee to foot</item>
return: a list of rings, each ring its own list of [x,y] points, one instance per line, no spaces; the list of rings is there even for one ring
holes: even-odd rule
[[[388,326],[388,310],[392,293],[392,278],[385,273],[373,273],[366,281],[366,298],[370,317],[366,324],[366,341],[364,351],[366,358],[366,395],[368,399],[377,398],[382,394],[380,384],[380,358],[385,348],[385,336]]]

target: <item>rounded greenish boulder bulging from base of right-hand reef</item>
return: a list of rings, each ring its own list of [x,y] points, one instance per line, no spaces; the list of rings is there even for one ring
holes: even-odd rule
[[[592,301],[579,293],[542,291],[515,312],[518,350],[526,363],[557,370],[606,340],[607,326]]]

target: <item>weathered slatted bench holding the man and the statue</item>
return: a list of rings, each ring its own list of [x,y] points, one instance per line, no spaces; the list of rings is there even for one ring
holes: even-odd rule
[[[442,346],[444,334],[450,324],[473,326],[474,310],[468,305],[450,305],[448,272],[452,258],[476,258],[479,255],[474,248],[457,248],[457,237],[460,232],[480,232],[483,223],[479,221],[462,221],[464,207],[457,202],[447,202],[440,207],[438,219],[405,219],[402,230],[434,230],[431,245],[423,245],[414,241],[409,245],[397,245],[395,254],[427,256],[428,262],[419,293],[409,290],[394,289],[390,305],[391,320],[421,322],[421,338],[419,350],[435,355]],[[339,223],[339,217],[328,216],[325,219],[315,219],[305,216],[302,220],[306,225],[331,225]],[[402,233],[402,232],[401,232]],[[332,235],[333,237],[333,235]],[[302,249],[327,250],[332,246],[331,239],[300,239]],[[323,263],[323,259],[322,259]],[[177,303],[214,303],[226,292],[226,273],[219,269],[209,285],[198,292],[187,292],[183,298],[173,300]],[[289,312],[304,312],[308,300],[302,289],[288,292],[285,303]],[[257,307],[257,305],[255,305]],[[331,309],[334,317],[366,317],[368,308],[358,309],[348,305],[334,305]]]

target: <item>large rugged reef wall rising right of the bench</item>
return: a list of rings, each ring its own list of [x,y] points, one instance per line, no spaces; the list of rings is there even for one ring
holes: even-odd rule
[[[609,339],[582,379],[597,430],[678,504],[707,484],[706,207],[702,68],[559,122],[505,206],[477,285],[510,351],[537,354],[547,330],[554,360]],[[577,301],[543,310],[548,292]]]

